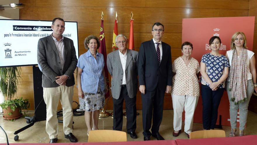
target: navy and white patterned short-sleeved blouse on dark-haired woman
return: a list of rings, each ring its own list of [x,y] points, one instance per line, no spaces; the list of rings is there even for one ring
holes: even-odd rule
[[[229,62],[227,57],[224,55],[215,56],[210,53],[204,54],[201,62],[206,65],[206,74],[209,76],[212,82],[218,81],[223,75],[225,67],[229,67]],[[210,86],[203,77],[201,77],[200,82],[203,85]],[[225,81],[222,82],[218,88],[225,88]]]

